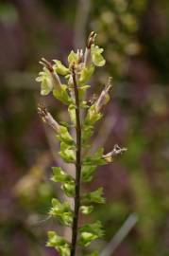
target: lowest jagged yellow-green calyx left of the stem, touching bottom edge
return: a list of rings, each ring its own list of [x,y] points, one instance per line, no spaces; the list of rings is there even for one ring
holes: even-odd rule
[[[55,247],[59,251],[60,256],[70,256],[70,245],[55,231],[48,231],[47,247]]]

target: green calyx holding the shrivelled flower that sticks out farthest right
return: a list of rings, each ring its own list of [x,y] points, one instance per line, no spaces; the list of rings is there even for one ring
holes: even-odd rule
[[[103,158],[103,148],[99,148],[93,155],[87,155],[84,157],[83,166],[86,165],[103,165],[106,163]]]

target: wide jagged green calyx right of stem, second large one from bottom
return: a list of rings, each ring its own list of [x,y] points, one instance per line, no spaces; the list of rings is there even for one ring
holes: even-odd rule
[[[103,188],[98,188],[94,192],[89,192],[82,197],[83,204],[104,204],[105,198],[103,197]]]

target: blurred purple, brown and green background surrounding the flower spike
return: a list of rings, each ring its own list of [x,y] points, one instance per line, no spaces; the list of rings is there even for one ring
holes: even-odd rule
[[[86,188],[103,185],[107,197],[91,217],[101,219],[106,236],[92,248],[101,256],[169,255],[168,27],[168,0],[0,1],[1,256],[59,255],[45,247],[48,229],[68,232],[47,215],[51,198],[60,196],[50,181],[58,144],[37,104],[67,117],[59,102],[41,99],[35,78],[41,57],[66,64],[91,30],[107,60],[92,91],[113,78],[112,101],[92,145],[128,149]]]

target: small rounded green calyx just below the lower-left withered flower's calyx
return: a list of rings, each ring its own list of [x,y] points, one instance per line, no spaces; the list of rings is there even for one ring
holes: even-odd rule
[[[67,163],[74,163],[76,160],[75,151],[68,144],[61,142],[59,155]]]

